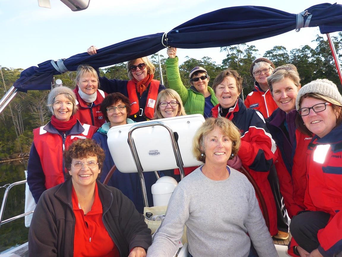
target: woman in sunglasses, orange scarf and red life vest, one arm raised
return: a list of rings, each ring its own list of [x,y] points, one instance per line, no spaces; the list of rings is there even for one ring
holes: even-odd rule
[[[87,52],[96,54],[97,48],[91,46]],[[155,67],[147,58],[142,57],[127,62],[130,80],[108,79],[100,77],[101,88],[108,94],[121,93],[131,101],[129,118],[135,122],[152,120],[158,93],[166,89],[160,81],[153,79]]]

